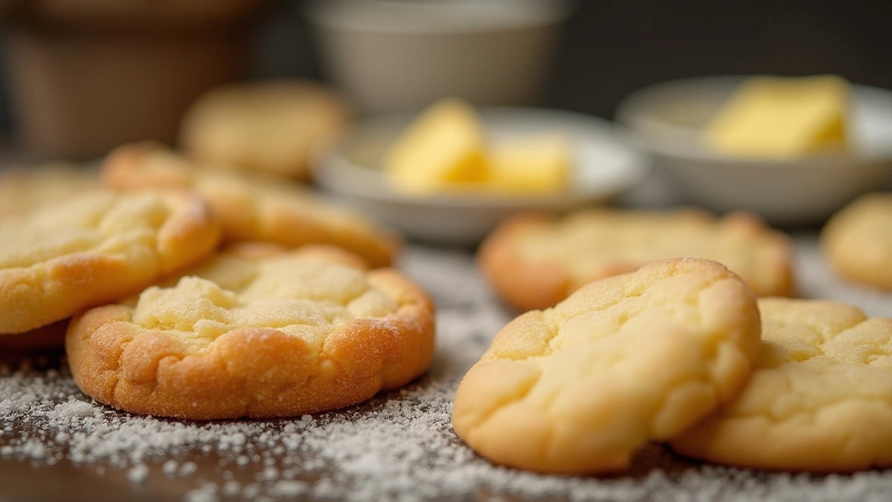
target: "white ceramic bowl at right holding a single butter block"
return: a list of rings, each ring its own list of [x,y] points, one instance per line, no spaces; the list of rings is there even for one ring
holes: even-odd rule
[[[892,181],[892,91],[853,86],[851,152],[794,161],[738,158],[704,149],[699,130],[745,77],[683,79],[641,89],[616,119],[694,201],[718,211],[760,213],[779,225],[810,225]]]

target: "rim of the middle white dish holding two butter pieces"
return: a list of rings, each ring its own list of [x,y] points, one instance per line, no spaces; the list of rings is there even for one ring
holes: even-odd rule
[[[319,155],[310,165],[313,179],[320,187],[326,188],[335,194],[358,197],[369,201],[386,202],[401,205],[425,205],[439,208],[515,208],[527,210],[549,210],[582,205],[588,202],[605,200],[640,184],[650,172],[648,157],[640,149],[639,141],[623,126],[613,122],[589,115],[587,113],[561,110],[557,108],[531,107],[531,106],[479,106],[477,112],[485,122],[493,116],[505,116],[505,114],[540,115],[552,119],[577,121],[585,123],[595,129],[599,129],[604,136],[610,138],[614,146],[624,149],[624,155],[630,160],[624,163],[624,177],[615,180],[609,185],[597,189],[578,190],[571,189],[558,194],[543,195],[504,195],[491,193],[437,193],[431,195],[414,196],[403,194],[381,183],[383,189],[368,190],[360,180],[351,183],[342,183],[336,180],[340,176],[359,176],[376,182],[381,182],[383,175],[380,170],[352,162],[344,154],[346,146],[368,135],[370,130],[380,130],[383,126],[393,127],[396,123],[408,123],[417,113],[396,112],[385,113],[369,117],[354,123],[346,130],[335,143],[328,147],[323,155]],[[591,188],[591,187],[590,187]]]

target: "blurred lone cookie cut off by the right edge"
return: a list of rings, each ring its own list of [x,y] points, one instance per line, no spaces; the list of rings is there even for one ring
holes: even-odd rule
[[[842,276],[892,289],[892,192],[859,197],[821,231],[824,254]]]

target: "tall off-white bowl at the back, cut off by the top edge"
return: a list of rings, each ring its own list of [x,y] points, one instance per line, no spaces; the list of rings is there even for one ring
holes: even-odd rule
[[[531,105],[549,74],[566,0],[324,0],[307,4],[328,75],[366,113],[442,96]]]

